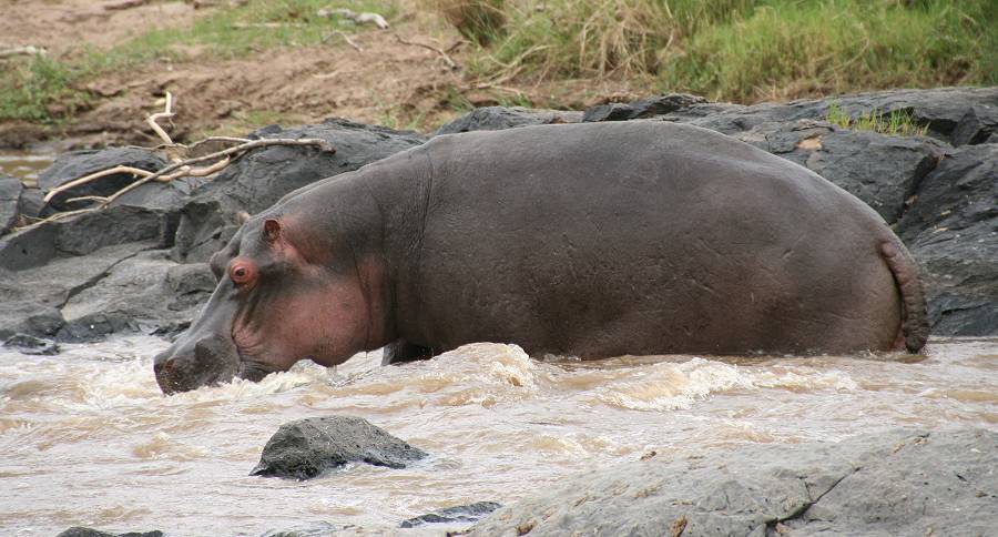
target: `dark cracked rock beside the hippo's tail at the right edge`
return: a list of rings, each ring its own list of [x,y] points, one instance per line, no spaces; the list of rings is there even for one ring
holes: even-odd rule
[[[933,333],[998,334],[998,145],[948,154],[898,227],[923,268]]]

